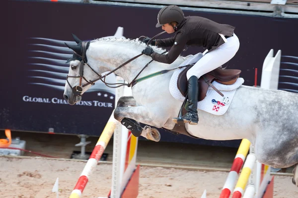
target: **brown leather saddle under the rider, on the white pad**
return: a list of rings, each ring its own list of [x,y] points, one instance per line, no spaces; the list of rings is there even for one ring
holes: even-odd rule
[[[177,87],[180,93],[186,97],[187,95],[187,78],[186,73],[193,65],[188,66],[184,69],[179,75],[177,80]],[[239,69],[222,69],[216,68],[213,71],[204,74],[199,79],[199,98],[198,101],[205,99],[207,90],[209,86],[211,86],[215,91],[217,91],[220,95],[220,91],[218,91],[211,83],[214,81],[224,84],[224,85],[232,85],[236,82],[237,78],[240,76],[241,70]],[[224,96],[224,95],[222,95]]]

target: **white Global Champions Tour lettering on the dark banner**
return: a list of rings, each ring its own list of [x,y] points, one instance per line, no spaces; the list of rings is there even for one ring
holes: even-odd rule
[[[68,104],[68,102],[65,99],[58,99],[58,98],[32,98],[29,96],[24,96],[23,100],[25,102],[42,102],[42,103],[55,103],[55,104]],[[75,103],[76,105],[82,105],[82,106],[101,106],[101,107],[111,107],[113,108],[113,103],[110,102],[100,102],[97,100],[93,101],[79,101]]]

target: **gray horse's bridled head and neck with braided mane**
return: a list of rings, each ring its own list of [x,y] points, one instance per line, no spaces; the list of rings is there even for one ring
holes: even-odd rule
[[[64,92],[64,98],[70,104],[80,101],[82,94],[95,81],[102,78],[100,74],[113,71],[114,74],[131,83],[143,67],[152,60],[151,57],[141,54],[146,44],[138,40],[100,38],[82,42],[75,35],[73,37],[77,45],[66,44],[68,48],[74,50],[73,56],[67,61],[70,63],[70,70]],[[152,48],[159,53],[164,51],[155,46]],[[134,59],[135,56],[138,58]],[[132,61],[126,63],[130,59]],[[184,58],[179,56],[178,60],[171,65],[154,61],[140,74],[139,78],[158,72],[162,68],[169,69],[178,66],[183,60]]]

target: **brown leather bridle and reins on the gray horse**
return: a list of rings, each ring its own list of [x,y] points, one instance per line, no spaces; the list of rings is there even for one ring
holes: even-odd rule
[[[161,34],[163,34],[163,33],[165,33],[165,31],[164,32],[161,32],[161,33],[159,33],[159,34],[157,34],[157,35],[155,35],[154,37],[152,37],[150,40],[149,40],[149,42],[147,43],[147,46],[149,45],[149,43],[155,38],[155,37],[157,37],[157,36],[159,36],[159,35],[161,35]],[[140,38],[142,38],[142,37],[144,37],[145,38],[145,36],[141,36]],[[140,39],[139,38],[139,39]],[[132,80],[132,82],[130,82],[130,83],[107,83],[107,82],[105,82],[105,78],[106,78],[106,76],[108,76],[108,75],[110,75],[111,73],[113,73],[113,72],[115,72],[116,70],[118,70],[118,69],[120,69],[121,67],[123,67],[123,66],[125,66],[127,63],[129,63],[129,62],[131,62],[131,61],[133,61],[133,60],[135,60],[136,58],[138,58],[138,57],[140,57],[141,55],[143,55],[143,53],[140,53],[140,54],[138,54],[138,55],[136,55],[136,56],[134,56],[133,58],[131,58],[131,59],[129,59],[128,61],[126,61],[126,62],[124,62],[123,64],[121,64],[121,65],[119,65],[117,68],[115,68],[115,69],[113,69],[112,71],[110,71],[109,73],[107,73],[107,74],[105,74],[104,76],[101,76],[101,74],[98,74],[88,63],[87,63],[87,58],[86,58],[86,50],[87,50],[87,45],[88,45],[88,43],[90,43],[89,41],[88,42],[82,42],[82,55],[80,55],[80,54],[78,54],[77,52],[75,52],[74,51],[74,54],[75,55],[77,55],[78,57],[80,57],[82,60],[80,61],[80,64],[79,64],[79,76],[67,76],[66,77],[66,81],[67,81],[67,83],[68,83],[68,85],[71,87],[71,89],[72,89],[72,91],[73,91],[73,94],[74,94],[74,96],[81,96],[81,93],[82,93],[82,91],[83,91],[83,88],[84,87],[86,87],[87,85],[94,85],[95,83],[94,82],[96,82],[96,81],[98,81],[98,80],[101,80],[107,87],[109,87],[109,88],[118,88],[118,87],[121,87],[121,86],[128,86],[128,87],[131,87],[132,85],[134,85],[135,84],[135,81],[136,81],[136,79],[138,78],[138,76],[144,71],[144,69],[153,61],[153,59],[152,60],[150,60],[146,65],[145,65],[145,67],[136,75],[136,77]],[[165,53],[165,52],[163,52],[163,53]],[[97,76],[99,76],[98,78],[96,78],[96,79],[94,79],[94,80],[87,80],[85,77],[84,77],[84,64],[86,64]],[[79,85],[76,85],[76,86],[74,86],[74,87],[72,87],[71,86],[71,84],[70,84],[70,82],[69,82],[69,80],[68,80],[68,78],[79,78]],[[84,85],[82,85],[82,79],[84,79],[87,83],[86,84],[84,84]],[[103,80],[102,80],[103,79]],[[111,86],[109,86],[109,85],[119,85],[119,86],[114,86],[114,87],[111,87]]]

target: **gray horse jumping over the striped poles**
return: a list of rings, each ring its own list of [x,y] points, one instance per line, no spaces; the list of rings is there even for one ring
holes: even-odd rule
[[[70,104],[80,101],[83,93],[91,87],[92,83],[87,81],[97,79],[98,74],[103,72],[113,71],[146,47],[138,40],[97,39],[82,48],[81,41],[77,38],[75,41],[76,46],[68,45],[74,50],[74,56],[69,59],[69,77],[64,91],[64,98]],[[164,49],[152,48],[156,52],[164,52]],[[85,55],[83,59],[88,64],[81,61],[79,56],[82,55]],[[153,61],[138,78],[178,67],[185,59],[179,56],[170,65]],[[149,56],[142,55],[114,73],[132,82],[150,60]],[[133,86],[132,97],[122,97],[118,101],[115,119],[122,121],[130,118],[156,128],[172,130],[175,125],[172,118],[177,117],[182,105],[182,101],[174,99],[169,92],[173,72]],[[83,78],[79,78],[82,75]],[[87,85],[78,86],[83,84]],[[292,181],[298,186],[298,94],[240,86],[229,105],[226,113],[220,116],[198,109],[199,124],[186,124],[188,133],[206,140],[248,139],[254,145],[260,163],[278,168],[296,165]],[[154,140],[156,129],[146,126],[142,130],[142,135]]]

